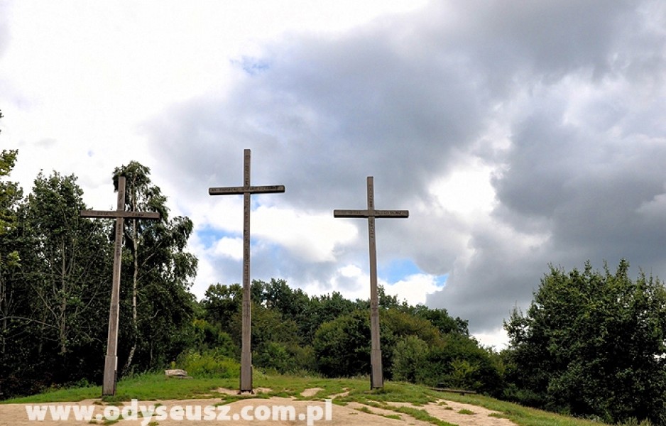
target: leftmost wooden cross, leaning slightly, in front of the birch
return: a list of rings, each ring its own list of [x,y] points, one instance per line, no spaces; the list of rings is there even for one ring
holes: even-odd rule
[[[118,369],[118,317],[120,303],[121,251],[123,248],[124,219],[160,219],[159,213],[125,211],[125,177],[118,177],[118,203],[116,210],[83,210],[81,217],[116,219],[116,241],[114,247],[114,275],[111,284],[111,307],[109,308],[109,334],[107,336],[107,357],[104,359],[104,383],[102,395],[116,395]]]

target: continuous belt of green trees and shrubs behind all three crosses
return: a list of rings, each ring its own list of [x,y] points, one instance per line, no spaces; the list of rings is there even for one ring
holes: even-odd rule
[[[2,152],[0,178],[15,162],[16,151]],[[197,259],[186,251],[192,222],[169,217],[167,198],[146,166],[131,162],[114,170],[114,182],[119,176],[126,178],[127,209],[161,215],[159,221],[124,221],[119,376],[176,359],[192,374],[237,375],[236,361],[229,360],[239,355],[241,286],[212,285],[196,302],[189,289]],[[0,386],[9,395],[102,378],[114,224],[80,217],[87,207],[76,180],[40,173],[26,198],[15,184],[0,181]],[[466,322],[445,310],[400,303],[381,287],[378,293],[387,380],[395,373],[407,381],[450,378],[488,388],[477,377],[488,373],[483,356],[475,355],[485,352],[469,339]],[[253,281],[251,295],[257,368],[369,373],[369,300],[340,293],[309,297],[275,278]],[[466,343],[444,350],[449,336]]]

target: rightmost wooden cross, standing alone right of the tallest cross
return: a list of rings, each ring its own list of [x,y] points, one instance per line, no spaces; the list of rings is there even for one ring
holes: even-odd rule
[[[370,388],[381,388],[384,384],[381,371],[381,348],[379,346],[379,300],[377,296],[377,253],[375,244],[376,217],[409,217],[409,210],[376,210],[372,176],[368,176],[368,209],[333,210],[334,217],[367,217],[370,239],[370,338],[372,343]]]

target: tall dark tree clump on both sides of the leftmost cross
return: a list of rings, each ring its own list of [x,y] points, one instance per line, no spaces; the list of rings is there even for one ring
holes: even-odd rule
[[[0,178],[15,162],[16,151],[2,152]],[[149,185],[148,168],[131,163],[116,171],[130,182],[130,208],[164,214],[151,225],[125,222],[120,365],[129,365],[133,354],[132,366],[146,371],[163,367],[190,345],[224,346],[224,337],[205,342],[192,324],[195,300],[187,289],[196,259],[185,251],[192,222],[168,218],[165,197]],[[76,181],[73,175],[40,173],[23,198],[16,184],[0,180],[0,387],[5,396],[102,378],[113,224],[80,217],[87,207]],[[132,351],[126,342],[133,343]]]

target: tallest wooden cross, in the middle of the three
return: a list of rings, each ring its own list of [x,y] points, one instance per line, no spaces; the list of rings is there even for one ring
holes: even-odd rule
[[[241,336],[241,383],[239,393],[253,393],[251,352],[251,296],[250,296],[250,195],[285,192],[284,185],[250,185],[250,150],[245,150],[244,180],[241,187],[212,187],[209,195],[243,194],[243,324]]]

